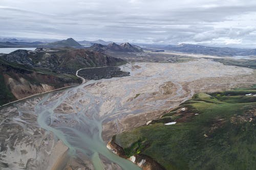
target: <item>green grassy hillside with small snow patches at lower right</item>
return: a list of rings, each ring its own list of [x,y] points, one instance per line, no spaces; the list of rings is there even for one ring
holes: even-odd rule
[[[126,156],[144,154],[166,169],[255,169],[256,96],[248,93],[256,89],[197,94],[160,118],[177,124],[155,121],[116,135],[115,142]]]

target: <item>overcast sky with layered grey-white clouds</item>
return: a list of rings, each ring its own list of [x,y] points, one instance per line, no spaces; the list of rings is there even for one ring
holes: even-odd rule
[[[0,36],[256,47],[253,0],[1,0]]]

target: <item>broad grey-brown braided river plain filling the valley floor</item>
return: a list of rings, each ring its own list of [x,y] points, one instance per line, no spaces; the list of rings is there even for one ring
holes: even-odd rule
[[[54,135],[69,148],[72,157],[67,161],[67,169],[135,169],[132,162],[106,149],[106,142],[113,135],[145,125],[197,92],[256,84],[253,69],[206,59],[183,63],[134,62],[120,68],[131,72],[131,76],[92,80],[1,110],[0,167],[46,169],[42,164],[51,161],[51,153],[44,146],[51,142],[54,148],[57,142],[42,136]],[[7,125],[13,133],[6,133]],[[26,141],[19,140],[19,135]],[[26,144],[30,144],[30,150]],[[19,152],[18,147],[24,151]],[[32,151],[36,154],[31,155]],[[45,161],[39,161],[36,155]],[[20,159],[14,161],[12,157]]]

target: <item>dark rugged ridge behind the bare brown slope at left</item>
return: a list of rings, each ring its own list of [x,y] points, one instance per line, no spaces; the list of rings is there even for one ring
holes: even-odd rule
[[[86,49],[74,48],[36,48],[35,51],[17,50],[1,57],[7,62],[63,74],[75,74],[84,67],[116,66],[124,63],[122,59]]]

